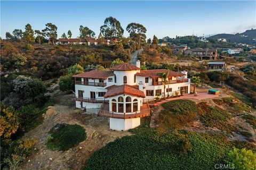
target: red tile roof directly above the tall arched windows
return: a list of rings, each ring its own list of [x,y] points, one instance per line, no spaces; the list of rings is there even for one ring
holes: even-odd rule
[[[138,96],[138,97],[142,97],[145,98],[145,94],[143,91],[140,91],[138,89],[138,87],[136,86],[130,86],[128,84],[124,84],[121,86],[110,86],[107,88],[108,91],[106,92],[104,98],[108,98],[108,97],[113,97],[113,96],[117,96],[117,95],[131,95],[131,96]]]

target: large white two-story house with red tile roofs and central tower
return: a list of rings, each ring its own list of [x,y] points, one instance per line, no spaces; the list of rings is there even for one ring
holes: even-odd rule
[[[140,125],[140,117],[150,115],[148,101],[172,96],[175,91],[190,93],[187,72],[170,71],[164,83],[158,73],[167,70],[140,70],[129,63],[113,66],[109,71],[93,70],[74,75],[76,107],[99,108],[99,116],[109,117],[110,129],[128,130]],[[165,92],[164,92],[165,90]]]

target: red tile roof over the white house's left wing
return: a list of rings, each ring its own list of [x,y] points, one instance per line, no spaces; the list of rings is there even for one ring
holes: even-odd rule
[[[73,75],[75,78],[94,78],[94,79],[107,79],[109,76],[114,75],[113,71],[93,70],[81,74]]]

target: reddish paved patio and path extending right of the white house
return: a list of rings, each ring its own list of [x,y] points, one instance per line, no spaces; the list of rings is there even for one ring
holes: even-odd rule
[[[203,99],[219,97],[219,95],[211,95],[211,94],[208,94],[207,92],[200,92],[200,93],[198,92],[197,94],[198,94],[197,96],[194,96],[193,94],[192,95],[189,94],[189,95],[183,95],[183,96],[180,96],[180,97],[165,99],[165,100],[162,100],[162,101],[158,101],[157,103],[154,104],[154,106],[162,105],[163,103],[166,103],[168,101],[185,99],[185,98],[203,100]]]

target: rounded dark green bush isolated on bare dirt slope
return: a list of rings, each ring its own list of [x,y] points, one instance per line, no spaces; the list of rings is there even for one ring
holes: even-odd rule
[[[77,124],[57,124],[49,133],[46,146],[50,150],[68,150],[86,139],[86,133],[82,126]]]

